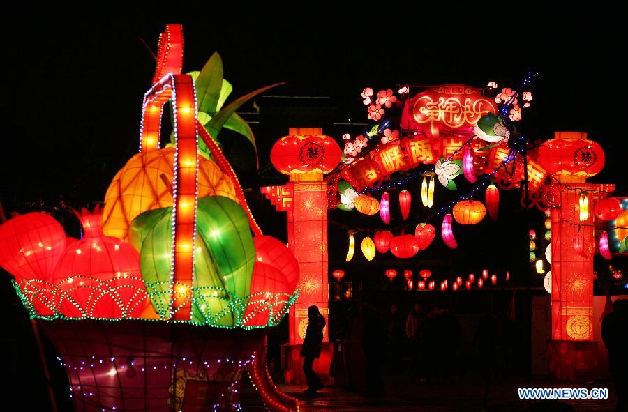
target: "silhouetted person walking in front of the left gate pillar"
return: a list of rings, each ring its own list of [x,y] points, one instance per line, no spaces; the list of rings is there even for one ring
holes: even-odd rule
[[[320,314],[318,307],[316,305],[308,307],[308,328],[306,337],[303,339],[303,348],[301,348],[301,358],[304,358],[303,372],[308,383],[308,388],[305,390],[307,394],[316,393],[317,390],[323,388],[322,381],[312,369],[312,365],[314,360],[320,357],[324,327],[325,318]]]

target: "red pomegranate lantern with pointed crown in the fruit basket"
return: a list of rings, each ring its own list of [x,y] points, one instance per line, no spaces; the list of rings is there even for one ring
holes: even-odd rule
[[[83,209],[78,218],[83,237],[66,248],[52,276],[57,312],[68,318],[139,316],[146,305],[140,254],[103,234],[98,206],[93,214]]]

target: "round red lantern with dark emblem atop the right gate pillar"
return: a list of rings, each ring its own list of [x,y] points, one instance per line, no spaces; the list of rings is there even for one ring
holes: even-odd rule
[[[584,132],[555,132],[553,139],[539,147],[537,160],[561,181],[583,182],[604,167],[604,151]]]

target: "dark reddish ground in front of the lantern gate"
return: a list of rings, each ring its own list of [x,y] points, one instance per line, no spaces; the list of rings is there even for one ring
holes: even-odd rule
[[[549,407],[530,409],[530,402],[518,399],[516,388],[527,387],[525,379],[508,379],[495,382],[489,391],[488,409],[483,405],[484,385],[480,379],[451,379],[447,382],[412,384],[401,376],[386,379],[387,395],[383,399],[370,400],[353,392],[338,388],[325,388],[315,396],[303,395],[304,386],[280,385],[285,392],[300,401],[301,412],[454,412],[491,411],[524,412],[555,411]],[[578,384],[558,384],[535,380],[534,388],[608,388],[609,397],[602,400],[576,400],[567,404],[576,411],[614,411],[615,393],[611,381]],[[241,404],[244,412],[265,411],[261,400],[252,388],[243,388]],[[537,406],[538,407],[538,406]],[[562,409],[558,409],[562,411]],[[557,411],[558,411],[557,410]]]

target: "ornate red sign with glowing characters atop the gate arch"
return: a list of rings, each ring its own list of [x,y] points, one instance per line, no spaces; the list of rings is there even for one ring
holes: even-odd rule
[[[481,116],[496,113],[495,100],[464,84],[442,84],[405,102],[401,127],[422,130],[428,136],[440,132],[471,133]]]

